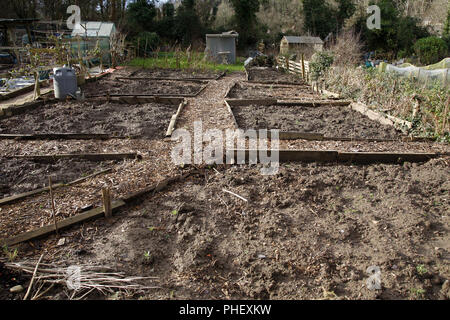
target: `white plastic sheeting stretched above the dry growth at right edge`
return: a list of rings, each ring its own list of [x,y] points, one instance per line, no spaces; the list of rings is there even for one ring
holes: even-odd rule
[[[446,58],[434,65],[420,68],[411,64],[403,64],[396,67],[392,64],[382,62],[378,70],[380,72],[391,72],[402,77],[416,79],[429,85],[437,82],[446,87],[450,86],[450,58]]]

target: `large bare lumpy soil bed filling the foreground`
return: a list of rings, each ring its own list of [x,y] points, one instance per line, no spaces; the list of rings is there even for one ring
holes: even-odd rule
[[[449,297],[448,163],[259,169],[206,171],[57,254],[157,276],[148,299]],[[370,266],[382,290],[367,288]]]

